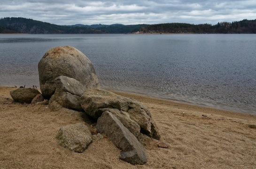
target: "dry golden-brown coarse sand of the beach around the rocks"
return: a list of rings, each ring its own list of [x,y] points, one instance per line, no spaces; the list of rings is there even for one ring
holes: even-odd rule
[[[58,145],[61,126],[90,125],[80,113],[13,102],[0,87],[0,169],[256,169],[256,116],[117,93],[141,101],[155,119],[161,141],[141,137],[148,161],[131,165],[108,138],[93,136],[84,153]]]

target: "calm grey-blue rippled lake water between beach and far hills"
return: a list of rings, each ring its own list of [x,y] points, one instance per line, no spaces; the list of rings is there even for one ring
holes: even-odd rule
[[[256,114],[256,35],[0,35],[0,85],[39,86],[55,46],[92,62],[102,88]]]

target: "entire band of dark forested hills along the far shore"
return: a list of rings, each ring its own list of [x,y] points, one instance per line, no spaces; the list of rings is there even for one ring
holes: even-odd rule
[[[85,34],[85,33],[129,33],[129,32],[162,32],[162,33],[256,33],[256,19],[221,22],[216,25],[189,23],[160,23],[137,25],[56,25],[22,17],[5,17],[0,19],[0,33],[29,34]]]

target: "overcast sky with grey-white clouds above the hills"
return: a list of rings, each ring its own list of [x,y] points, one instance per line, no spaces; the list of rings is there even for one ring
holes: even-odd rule
[[[0,0],[0,17],[58,25],[217,24],[256,19],[256,0]]]

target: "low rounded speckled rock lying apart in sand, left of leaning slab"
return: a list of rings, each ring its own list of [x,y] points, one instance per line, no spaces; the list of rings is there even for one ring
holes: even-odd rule
[[[83,153],[92,142],[88,127],[82,123],[61,127],[56,138],[59,140],[59,145],[77,153]]]

